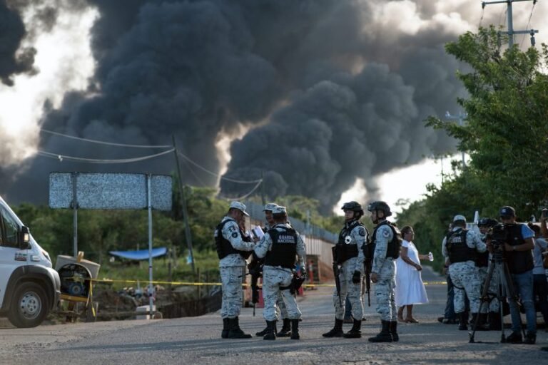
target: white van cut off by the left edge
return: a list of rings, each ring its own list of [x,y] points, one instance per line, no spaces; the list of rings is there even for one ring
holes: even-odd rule
[[[60,287],[48,252],[0,197],[0,316],[36,327],[57,307]]]

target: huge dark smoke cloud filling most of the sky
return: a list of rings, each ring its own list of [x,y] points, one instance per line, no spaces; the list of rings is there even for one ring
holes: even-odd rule
[[[1,1],[1,0],[0,0]],[[165,145],[208,170],[220,166],[221,133],[250,128],[230,148],[226,176],[265,176],[270,197],[302,194],[329,210],[340,194],[432,153],[454,149],[427,130],[427,115],[456,110],[462,88],[457,63],[443,44],[455,33],[440,26],[410,36],[372,18],[358,0],[88,0],[100,17],[91,29],[96,73],[86,93],[46,106],[41,125],[59,133],[116,143]],[[432,16],[429,1],[417,1]],[[56,9],[53,7],[52,9]],[[41,29],[59,16],[42,12]],[[86,158],[127,158],[121,150],[41,135],[41,150]],[[21,171],[20,167],[18,167]],[[13,200],[45,202],[53,170],[170,173],[173,158],[128,165],[88,165],[36,158],[16,184]],[[196,178],[193,173],[199,174]],[[186,183],[216,178],[183,166]],[[223,195],[250,185],[221,184]]]

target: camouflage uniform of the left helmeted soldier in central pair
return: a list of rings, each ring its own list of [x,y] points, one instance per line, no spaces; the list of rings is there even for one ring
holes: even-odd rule
[[[347,227],[348,223],[345,224]],[[363,302],[362,302],[362,281],[352,283],[352,275],[355,271],[364,274],[363,269],[363,250],[362,247],[367,242],[367,231],[362,225],[355,226],[346,236],[346,245],[357,245],[357,257],[352,257],[342,262],[339,269],[340,280],[340,299],[337,294],[337,289],[333,291],[333,304],[335,305],[335,318],[344,319],[346,297],[350,300],[352,307],[352,317],[361,320],[363,318]]]

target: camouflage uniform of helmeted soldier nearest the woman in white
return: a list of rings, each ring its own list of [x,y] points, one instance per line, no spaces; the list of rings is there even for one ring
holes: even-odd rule
[[[377,274],[375,297],[377,298],[377,313],[386,322],[397,321],[395,302],[396,263],[391,257],[386,257],[388,243],[394,238],[389,225],[377,226],[375,234],[375,254],[373,256],[372,273]]]

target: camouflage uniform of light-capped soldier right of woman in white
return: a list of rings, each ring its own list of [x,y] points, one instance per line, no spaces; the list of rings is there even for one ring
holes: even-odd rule
[[[461,230],[460,227],[454,227],[452,232]],[[447,237],[444,237],[442,242],[442,255],[449,257],[449,252],[446,246]],[[477,232],[468,230],[466,232],[466,245],[470,249],[475,249],[477,252],[485,252],[486,245],[480,239]],[[449,274],[452,282],[455,285],[455,313],[465,312],[465,293],[470,300],[470,312],[477,314],[480,309],[480,290],[482,283],[480,282],[480,274],[476,264],[472,259],[465,262],[451,263]]]

